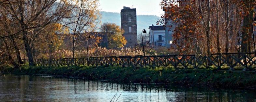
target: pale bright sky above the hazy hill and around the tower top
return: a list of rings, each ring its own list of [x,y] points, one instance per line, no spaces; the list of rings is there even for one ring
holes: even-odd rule
[[[132,7],[137,10],[137,15],[161,16],[163,11],[159,6],[161,0],[99,0],[101,11],[120,13],[123,6]]]

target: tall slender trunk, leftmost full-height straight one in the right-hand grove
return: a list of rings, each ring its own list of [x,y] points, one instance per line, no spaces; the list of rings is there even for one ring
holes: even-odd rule
[[[206,37],[207,37],[207,55],[208,57],[211,56],[211,49],[210,49],[210,20],[211,20],[211,8],[210,8],[210,0],[208,0],[207,2],[207,6],[208,6],[208,20],[207,20],[207,30],[206,30]]]

